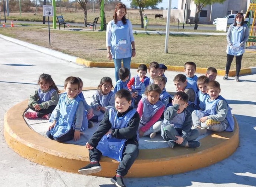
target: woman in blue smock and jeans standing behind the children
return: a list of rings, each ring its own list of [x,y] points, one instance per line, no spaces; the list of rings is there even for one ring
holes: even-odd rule
[[[106,47],[108,59],[114,60],[115,81],[119,80],[118,70],[123,60],[124,67],[130,70],[131,57],[135,57],[135,43],[132,34],[132,24],[125,18],[127,11],[123,3],[115,6],[113,20],[108,22],[106,28]],[[129,80],[131,73],[129,76]]]

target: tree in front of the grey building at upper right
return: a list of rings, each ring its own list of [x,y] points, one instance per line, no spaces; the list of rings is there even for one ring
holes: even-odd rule
[[[198,22],[199,22],[199,13],[202,11],[203,7],[206,6],[207,4],[211,3],[224,3],[226,0],[193,0],[194,3],[196,4],[196,15],[195,15],[195,27],[194,30],[197,30],[198,27]]]

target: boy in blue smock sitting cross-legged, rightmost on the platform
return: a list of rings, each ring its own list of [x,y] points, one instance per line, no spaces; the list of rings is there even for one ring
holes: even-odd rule
[[[227,101],[220,96],[220,84],[212,80],[207,84],[205,110],[194,110],[192,112],[193,126],[200,135],[206,134],[206,130],[216,132],[233,131],[234,119]]]

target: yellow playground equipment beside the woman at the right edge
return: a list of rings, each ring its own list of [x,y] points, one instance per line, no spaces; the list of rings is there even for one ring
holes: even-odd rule
[[[249,21],[247,22],[248,28],[250,30],[249,39],[246,42],[246,49],[255,49],[256,50],[256,3],[250,3],[249,8],[246,11],[245,17],[249,14]],[[250,29],[250,22],[252,21],[252,28]],[[248,53],[256,53],[256,51],[248,51]]]

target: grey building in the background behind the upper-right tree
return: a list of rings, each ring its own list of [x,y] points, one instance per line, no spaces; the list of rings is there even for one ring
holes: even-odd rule
[[[253,2],[252,0],[226,0],[223,4],[213,3],[203,7],[202,11],[199,13],[200,23],[212,23],[217,17],[224,17],[227,14],[236,14],[238,12],[247,11],[249,4]],[[194,20],[196,15],[196,4],[193,0],[178,0],[178,10],[184,10],[186,3],[185,16],[186,20]],[[183,22],[183,21],[182,21]]]

